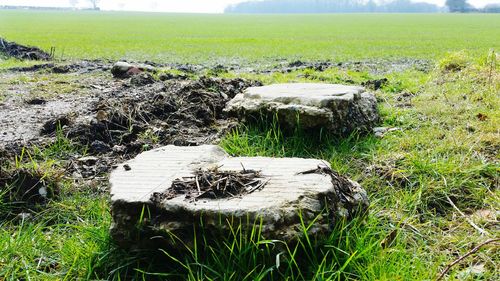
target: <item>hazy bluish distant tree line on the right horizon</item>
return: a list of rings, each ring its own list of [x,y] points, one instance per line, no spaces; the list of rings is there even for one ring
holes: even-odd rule
[[[225,13],[437,13],[498,12],[498,4],[478,10],[467,0],[447,0],[446,7],[410,0],[252,0],[228,6]]]

